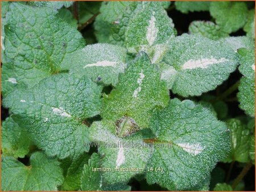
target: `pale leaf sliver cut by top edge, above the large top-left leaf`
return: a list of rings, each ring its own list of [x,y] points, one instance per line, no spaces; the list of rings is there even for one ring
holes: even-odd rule
[[[30,5],[35,5],[38,7],[50,7],[52,9],[60,9],[61,7],[70,7],[73,4],[73,1],[35,1],[30,2]]]

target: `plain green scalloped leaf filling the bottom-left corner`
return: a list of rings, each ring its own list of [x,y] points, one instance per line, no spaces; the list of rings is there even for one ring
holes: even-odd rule
[[[2,157],[3,191],[57,191],[63,182],[59,162],[42,152],[30,157],[30,166],[25,166],[14,157]]]

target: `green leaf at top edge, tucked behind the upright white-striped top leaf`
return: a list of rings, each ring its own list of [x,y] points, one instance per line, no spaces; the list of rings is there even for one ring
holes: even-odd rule
[[[170,2],[156,2],[164,9],[170,5]],[[96,37],[100,43],[112,43],[125,46],[125,33],[130,20],[137,15],[151,2],[138,1],[120,1],[102,3],[100,12],[94,22]]]

